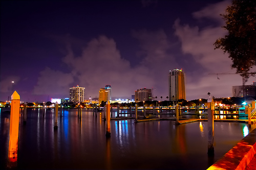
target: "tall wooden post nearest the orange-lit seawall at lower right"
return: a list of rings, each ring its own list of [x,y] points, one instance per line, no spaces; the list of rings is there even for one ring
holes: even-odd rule
[[[214,155],[214,109],[215,103],[212,99],[208,106],[208,155]]]

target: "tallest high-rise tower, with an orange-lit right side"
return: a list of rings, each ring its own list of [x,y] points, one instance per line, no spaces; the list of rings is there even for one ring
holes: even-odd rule
[[[182,69],[169,71],[169,101],[186,100],[185,72]]]

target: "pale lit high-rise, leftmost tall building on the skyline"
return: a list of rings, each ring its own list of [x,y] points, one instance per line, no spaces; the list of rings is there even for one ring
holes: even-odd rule
[[[79,103],[84,101],[84,87],[71,87],[70,89],[70,101]]]

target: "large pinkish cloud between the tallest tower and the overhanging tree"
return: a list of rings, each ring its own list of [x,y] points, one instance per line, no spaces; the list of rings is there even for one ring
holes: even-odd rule
[[[214,50],[214,42],[220,37],[224,37],[227,32],[221,28],[223,19],[219,15],[224,13],[230,1],[223,1],[211,4],[204,9],[194,12],[195,19],[206,18],[207,21],[217,23],[208,26],[189,26],[187,23],[181,24],[180,19],[174,22],[175,35],[181,42],[181,50],[187,57],[192,57],[198,64],[204,67],[204,72],[197,72],[197,81],[186,74],[186,96],[191,99],[193,96],[206,98],[207,92],[218,97],[231,96],[231,87],[241,85],[242,78],[239,75],[208,75],[213,72],[236,72],[231,69],[232,61],[228,54],[223,54],[221,50]],[[196,23],[196,22],[195,22]],[[210,91],[209,91],[210,90]]]

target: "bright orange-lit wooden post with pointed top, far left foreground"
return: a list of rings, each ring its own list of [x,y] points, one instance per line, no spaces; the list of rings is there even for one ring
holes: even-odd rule
[[[10,118],[10,140],[9,140],[9,152],[8,167],[15,167],[17,165],[18,155],[18,125],[19,125],[19,103],[20,96],[14,91],[11,95],[11,118]]]

